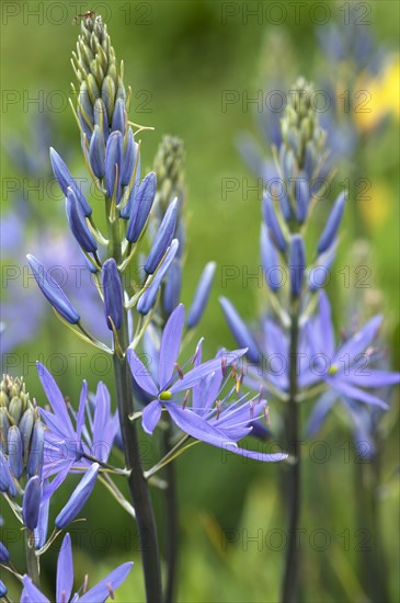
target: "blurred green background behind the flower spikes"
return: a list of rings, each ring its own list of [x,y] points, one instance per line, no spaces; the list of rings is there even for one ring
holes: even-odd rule
[[[286,7],[286,18],[268,12],[273,4]],[[243,110],[241,102],[222,110],[224,91],[243,91],[254,96],[267,86],[268,70],[274,70],[275,58],[270,53],[268,41],[285,36],[290,59],[284,80],[292,81],[304,75],[318,83],[321,73],[327,75],[330,64],[322,56],[316,38],[317,4],[329,11],[329,22],[343,20],[343,2],[305,2],[297,19],[294,3],[277,2],[98,2],[90,7],[73,2],[3,2],[1,71],[3,89],[2,146],[14,133],[28,138],[30,123],[38,111],[52,113],[56,124],[54,146],[69,149],[69,166],[75,173],[83,173],[77,126],[65,100],[70,93],[69,82],[73,73],[69,64],[75,48],[78,26],[71,21],[77,12],[94,9],[102,12],[117,57],[124,59],[125,82],[133,87],[130,116],[134,122],[155,126],[155,132],[144,132],[142,166],[151,168],[152,158],[163,134],[183,138],[186,148],[186,215],[187,261],[183,302],[190,302],[203,265],[209,260],[218,262],[217,278],[198,335],[206,338],[206,353],[214,353],[221,344],[233,345],[233,340],[222,319],[218,296],[227,295],[250,317],[262,304],[256,281],[243,286],[236,278],[224,286],[224,266],[248,266],[249,273],[259,265],[260,201],[258,193],[245,186],[256,185],[235,146],[241,130],[256,133],[252,105]],[[395,1],[363,2],[370,7],[370,33],[378,45],[396,62],[399,41],[399,5]],[[261,8],[260,8],[261,7]],[[245,11],[253,8],[256,16]],[[36,15],[35,11],[38,11]],[[322,13],[321,13],[322,14]],[[268,18],[270,15],[270,18]],[[316,18],[317,15],[317,18]],[[271,21],[279,21],[272,23]],[[328,25],[322,25],[328,26]],[[268,49],[270,48],[270,49]],[[282,57],[276,57],[276,61]],[[398,58],[397,58],[398,60]],[[275,66],[276,67],[276,66]],[[262,76],[261,76],[262,75]],[[276,73],[274,73],[275,76]],[[266,84],[265,84],[266,82]],[[399,93],[398,78],[390,82],[390,95]],[[60,92],[60,94],[57,94]],[[39,105],[28,103],[38,98]],[[52,99],[57,106],[52,106]],[[59,110],[59,99],[64,106]],[[382,107],[378,107],[377,111]],[[375,110],[375,106],[374,106]],[[363,125],[359,125],[363,129]],[[261,138],[260,138],[261,140]],[[35,149],[32,149],[35,153]],[[268,149],[265,149],[268,153]],[[353,265],[353,243],[357,221],[363,223],[364,236],[370,243],[368,265],[372,285],[379,289],[379,303],[385,314],[385,334],[393,363],[398,364],[399,333],[399,137],[398,109],[381,126],[379,136],[365,126],[362,157],[353,158],[351,169],[342,166],[336,183],[359,168],[372,183],[372,200],[358,204],[356,212],[347,212],[343,228],[341,250],[336,261],[338,275],[332,288],[334,317],[338,326],[346,325],[346,304],[352,295],[363,291],[345,291],[339,276],[340,268]],[[7,153],[2,153],[2,182],[18,177]],[[221,194],[224,179],[238,179],[238,190]],[[353,178],[353,175],[350,175]],[[4,195],[4,212],[12,201]],[[31,193],[33,204],[42,204],[42,213],[54,220],[55,227],[64,224],[62,207],[54,206],[54,200],[38,198]],[[62,206],[62,203],[60,203]],[[31,230],[32,234],[32,230]],[[316,234],[317,236],[317,234]],[[25,251],[25,250],[24,250]],[[26,249],[26,252],[28,249]],[[39,295],[39,293],[37,293]],[[372,306],[376,297],[367,298]],[[374,308],[375,310],[375,308]],[[373,308],[367,308],[368,316]],[[24,319],[21,317],[21,329]],[[89,352],[83,344],[66,332],[49,312],[39,337],[18,349],[24,353],[22,368],[31,395],[44,402],[33,362],[39,354]],[[23,361],[25,359],[25,361]],[[31,363],[26,366],[26,359]],[[23,367],[23,362],[25,366]],[[90,373],[89,360],[83,361],[82,375],[75,378],[61,374],[57,382],[72,403],[78,400],[80,380],[84,376],[94,390],[98,376]],[[104,380],[113,390],[112,375]],[[399,600],[399,497],[396,475],[398,467],[397,407],[389,412],[388,436],[382,452],[382,487],[379,491],[379,509],[390,600]],[[354,499],[354,471],[356,456],[352,450],[352,435],[341,420],[341,407],[331,417],[319,437],[328,443],[331,456],[327,463],[311,460],[310,446],[305,446],[304,512],[300,522],[306,531],[301,541],[302,595],[305,601],[368,601],[363,585],[359,565],[363,551],[358,550],[361,534]],[[271,414],[278,413],[272,406]],[[308,411],[305,411],[307,414]],[[147,451],[146,440],[144,451]],[[145,457],[148,460],[148,457]],[[241,458],[228,458],[221,463],[218,450],[205,445],[195,446],[176,463],[181,513],[181,559],[179,578],[180,601],[276,601],[284,551],[274,530],[284,528],[279,502],[279,466],[244,463]],[[70,488],[76,482],[70,479]],[[57,503],[66,499],[66,492],[57,494]],[[157,514],[162,539],[162,493],[155,492]],[[12,517],[2,510],[7,530]],[[137,538],[129,517],[110,500],[101,486],[84,510],[85,523],[71,528],[77,547],[75,562],[77,580],[89,573],[91,580],[101,578],[124,560],[134,559],[129,579],[116,593],[116,601],[141,601],[142,583]],[[329,535],[329,545],[318,541],[318,533]],[[224,531],[235,542],[226,543]],[[260,533],[261,531],[261,533]],[[250,538],[255,537],[258,542]],[[317,538],[317,541],[316,541]],[[317,544],[316,544],[317,543]],[[134,553],[132,553],[130,545]],[[372,538],[374,546],[374,538]],[[324,548],[324,549],[323,549]],[[10,545],[14,565],[19,567],[19,543]],[[53,549],[52,549],[53,550]],[[48,553],[44,564],[48,584],[54,582],[55,554]],[[93,583],[92,582],[92,583]],[[12,598],[16,598],[11,588]],[[133,593],[133,594],[132,594]]]

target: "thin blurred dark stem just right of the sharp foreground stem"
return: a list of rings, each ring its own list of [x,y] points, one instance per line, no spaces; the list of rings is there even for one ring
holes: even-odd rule
[[[163,432],[163,455],[171,450],[172,423],[168,417],[168,428]],[[165,466],[167,490],[165,490],[165,559],[167,559],[167,584],[164,592],[164,603],[172,603],[175,591],[175,577],[178,567],[178,496],[176,496],[176,478],[175,464],[169,463]]]

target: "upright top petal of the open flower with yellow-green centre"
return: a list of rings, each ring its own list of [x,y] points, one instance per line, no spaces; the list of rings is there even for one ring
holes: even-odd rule
[[[158,368],[160,391],[164,389],[172,377],[173,368],[181,348],[184,322],[185,308],[183,304],[180,304],[168,319],[161,338],[160,361]]]

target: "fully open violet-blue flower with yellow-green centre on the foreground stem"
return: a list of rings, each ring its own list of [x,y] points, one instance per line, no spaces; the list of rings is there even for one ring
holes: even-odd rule
[[[153,432],[164,407],[173,422],[192,437],[237,452],[237,441],[251,432],[249,424],[263,414],[266,401],[254,403],[242,397],[229,407],[226,398],[215,408],[212,407],[220,391],[226,368],[233,365],[247,350],[222,352],[202,363],[199,344],[194,357],[195,366],[184,374],[176,364],[184,318],[184,307],[180,304],[171,314],[162,333],[157,377],[149,373],[134,350],[128,350],[127,357],[136,384],[152,397],[142,411],[144,430],[150,434]],[[190,390],[193,396],[192,408],[187,405]],[[205,397],[202,390],[207,391]],[[247,451],[240,451],[239,454],[251,456]],[[282,454],[262,456],[262,460],[285,458]]]

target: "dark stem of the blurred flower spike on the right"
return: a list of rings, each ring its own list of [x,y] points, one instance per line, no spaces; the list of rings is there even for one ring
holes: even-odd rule
[[[286,503],[287,503],[287,547],[285,570],[282,582],[282,603],[293,603],[297,596],[299,573],[298,522],[300,516],[300,446],[299,446],[299,407],[297,396],[297,357],[298,357],[298,306],[293,304],[290,321],[289,346],[289,400],[285,417],[285,435],[290,463],[286,473]]]

